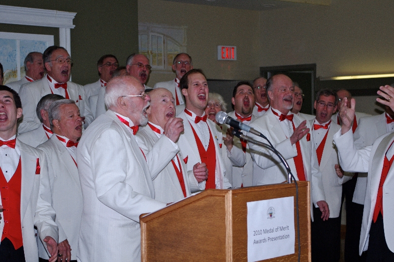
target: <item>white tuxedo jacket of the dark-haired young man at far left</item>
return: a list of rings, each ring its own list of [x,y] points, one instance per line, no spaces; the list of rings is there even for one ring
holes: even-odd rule
[[[38,249],[35,240],[34,226],[37,227],[41,241],[51,236],[58,241],[58,227],[55,223],[55,210],[45,196],[45,189],[49,186],[46,181],[40,181],[45,176],[46,160],[42,151],[25,145],[16,140],[21,152],[22,187],[21,187],[21,224],[23,249],[26,262],[38,262]],[[39,159],[40,174],[36,173],[37,159]],[[0,197],[1,205],[1,197]],[[0,213],[0,237],[4,228],[3,212]],[[42,242],[44,244],[44,242]],[[45,244],[44,244],[45,245]],[[45,245],[46,246],[46,245]]]

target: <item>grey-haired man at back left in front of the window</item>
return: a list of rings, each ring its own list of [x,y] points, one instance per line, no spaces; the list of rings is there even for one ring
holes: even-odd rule
[[[23,84],[41,79],[44,76],[44,63],[40,52],[29,53],[24,61],[26,75],[21,80],[8,83],[7,86],[19,93]]]

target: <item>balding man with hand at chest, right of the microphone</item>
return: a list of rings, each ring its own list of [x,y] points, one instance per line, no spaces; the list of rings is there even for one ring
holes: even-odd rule
[[[329,217],[328,204],[323,189],[322,173],[319,170],[316,151],[310,134],[310,124],[290,112],[293,108],[294,86],[292,80],[283,75],[274,75],[267,81],[270,109],[250,124],[263,133],[276,150],[287,160],[296,180],[311,183],[311,218],[313,204],[322,211],[322,218]],[[263,138],[252,135],[265,142]],[[279,159],[260,146],[249,143],[254,159],[253,186],[282,183],[287,180],[287,171]],[[301,159],[302,158],[302,159]]]

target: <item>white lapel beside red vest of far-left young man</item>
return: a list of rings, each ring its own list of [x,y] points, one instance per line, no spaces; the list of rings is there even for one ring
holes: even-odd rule
[[[34,179],[35,179],[35,167],[37,165],[37,157],[27,153],[25,145],[20,143],[17,139],[19,149],[21,152],[21,164],[22,164],[22,184],[21,184],[21,221],[25,218],[26,209],[28,207],[30,198],[32,197]],[[42,161],[40,161],[40,164]]]

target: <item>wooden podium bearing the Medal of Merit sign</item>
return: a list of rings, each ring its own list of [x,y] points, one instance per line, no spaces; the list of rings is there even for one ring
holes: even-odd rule
[[[298,181],[301,261],[311,259],[309,182]],[[265,261],[296,262],[296,186],[209,189],[141,215],[141,261],[248,261],[247,202],[294,196],[295,254]]]

